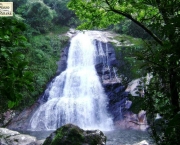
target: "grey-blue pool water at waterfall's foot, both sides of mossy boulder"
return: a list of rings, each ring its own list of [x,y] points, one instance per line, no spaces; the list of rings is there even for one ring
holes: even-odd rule
[[[21,133],[35,136],[38,140],[45,139],[53,131],[24,131]],[[149,145],[155,145],[148,132],[137,130],[116,129],[113,131],[103,131],[107,137],[106,145],[133,145],[146,140]]]

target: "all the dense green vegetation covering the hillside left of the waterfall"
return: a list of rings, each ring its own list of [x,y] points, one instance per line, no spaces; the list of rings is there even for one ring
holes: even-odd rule
[[[14,16],[0,17],[1,122],[9,108],[23,109],[42,94],[56,75],[60,50],[68,41],[63,34],[77,22],[71,20],[74,13],[67,9],[67,1],[13,0],[13,4]]]

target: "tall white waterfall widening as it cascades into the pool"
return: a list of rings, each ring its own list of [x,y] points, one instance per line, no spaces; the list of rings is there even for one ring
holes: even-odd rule
[[[46,90],[48,100],[33,114],[30,130],[55,130],[67,123],[83,129],[112,129],[107,96],[95,69],[96,55],[88,31],[72,38],[67,69]]]

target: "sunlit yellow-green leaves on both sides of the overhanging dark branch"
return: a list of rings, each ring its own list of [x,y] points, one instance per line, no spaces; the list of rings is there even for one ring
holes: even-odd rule
[[[139,21],[151,21],[152,16],[156,17],[159,14],[157,7],[148,1],[126,1],[126,0],[107,0],[107,1],[80,1],[71,0],[68,4],[71,10],[74,10],[76,15],[83,20],[80,28],[89,26],[107,27],[110,24],[118,23],[124,18],[117,15],[112,9],[121,11],[124,14],[130,14],[134,19]]]

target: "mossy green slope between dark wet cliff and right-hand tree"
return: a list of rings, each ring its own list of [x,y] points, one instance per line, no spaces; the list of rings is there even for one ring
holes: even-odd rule
[[[146,72],[141,68],[142,61],[135,58],[134,53],[144,49],[145,44],[141,39],[133,38],[127,35],[119,35],[115,37],[121,43],[121,46],[114,46],[118,73],[122,78],[124,85],[131,80],[142,77]]]

